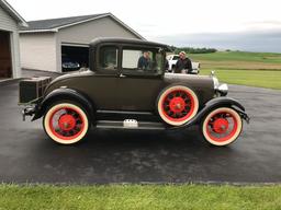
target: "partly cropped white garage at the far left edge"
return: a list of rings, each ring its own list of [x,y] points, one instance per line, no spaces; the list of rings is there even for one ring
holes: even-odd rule
[[[0,0],[0,80],[20,78],[19,27],[27,24],[4,0]]]

